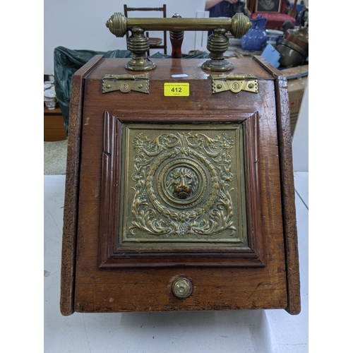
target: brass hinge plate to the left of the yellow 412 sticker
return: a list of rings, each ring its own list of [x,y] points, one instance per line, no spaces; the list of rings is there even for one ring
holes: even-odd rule
[[[102,92],[113,92],[119,90],[128,93],[131,90],[143,93],[150,92],[150,74],[142,75],[104,75],[102,83]]]

